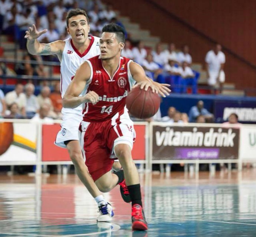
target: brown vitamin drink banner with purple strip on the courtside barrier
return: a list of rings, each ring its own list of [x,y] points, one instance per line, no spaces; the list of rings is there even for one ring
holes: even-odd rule
[[[239,129],[153,126],[153,160],[237,159]]]

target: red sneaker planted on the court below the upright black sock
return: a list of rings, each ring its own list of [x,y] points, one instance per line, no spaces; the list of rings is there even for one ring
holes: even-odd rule
[[[139,204],[132,206],[132,230],[147,230],[148,223],[145,220],[144,211]]]

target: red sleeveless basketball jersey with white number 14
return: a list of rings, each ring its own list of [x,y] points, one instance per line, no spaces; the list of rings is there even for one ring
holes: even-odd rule
[[[83,109],[83,121],[99,122],[111,119],[116,113],[124,113],[125,99],[135,80],[129,70],[130,59],[120,57],[118,69],[111,78],[102,65],[100,56],[86,60],[91,67],[91,78],[84,93],[95,91],[99,95],[99,101],[93,105],[85,103]]]

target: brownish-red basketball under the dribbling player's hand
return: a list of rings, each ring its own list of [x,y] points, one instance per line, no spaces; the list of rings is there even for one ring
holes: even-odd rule
[[[160,97],[153,93],[149,87],[147,91],[134,87],[126,98],[126,107],[129,113],[138,119],[148,119],[153,117],[160,106]]]

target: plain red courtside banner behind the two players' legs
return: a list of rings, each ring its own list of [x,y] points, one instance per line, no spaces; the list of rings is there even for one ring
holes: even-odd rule
[[[136,140],[132,148],[134,160],[145,160],[145,125],[134,125]],[[70,161],[68,150],[55,146],[56,134],[60,130],[60,124],[43,124],[42,127],[42,161]]]

